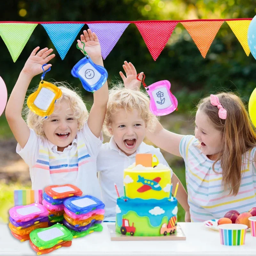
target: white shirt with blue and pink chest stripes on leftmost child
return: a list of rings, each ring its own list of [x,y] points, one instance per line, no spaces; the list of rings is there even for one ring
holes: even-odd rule
[[[102,134],[96,138],[87,122],[72,145],[63,152],[44,136],[30,129],[30,136],[24,148],[17,145],[16,152],[29,166],[32,189],[43,189],[50,185],[72,184],[100,199],[100,187],[96,172],[96,158],[102,144]]]

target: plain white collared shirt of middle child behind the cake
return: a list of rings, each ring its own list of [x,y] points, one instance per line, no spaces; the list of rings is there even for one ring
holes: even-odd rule
[[[97,157],[97,172],[101,188],[102,201],[105,204],[105,220],[115,220],[116,216],[116,189],[120,196],[124,195],[124,169],[135,163],[136,154],[151,153],[156,155],[159,163],[169,166],[159,148],[147,145],[142,142],[136,152],[131,156],[126,156],[111,137],[109,143],[104,143],[100,147]],[[171,168],[170,168],[171,169]],[[171,169],[172,176],[172,169]]]

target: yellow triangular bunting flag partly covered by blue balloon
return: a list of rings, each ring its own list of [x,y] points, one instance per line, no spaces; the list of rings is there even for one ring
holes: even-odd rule
[[[251,20],[227,20],[229,27],[232,29],[236,38],[244,48],[244,52],[247,56],[250,54],[250,48],[247,40],[247,31]]]

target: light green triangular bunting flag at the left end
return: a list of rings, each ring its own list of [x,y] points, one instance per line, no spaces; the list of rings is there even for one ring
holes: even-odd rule
[[[13,62],[20,56],[36,26],[35,23],[0,23],[0,36],[11,53]]]

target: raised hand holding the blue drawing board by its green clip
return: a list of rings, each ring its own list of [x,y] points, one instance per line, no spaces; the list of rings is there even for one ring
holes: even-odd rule
[[[96,34],[89,28],[88,32],[84,30],[84,35],[80,36],[81,40],[77,40],[79,48],[88,53],[89,57],[93,60],[95,58],[101,58],[100,42]],[[84,44],[81,43],[84,42]],[[81,51],[83,52],[83,51]]]

